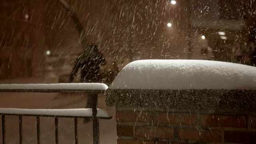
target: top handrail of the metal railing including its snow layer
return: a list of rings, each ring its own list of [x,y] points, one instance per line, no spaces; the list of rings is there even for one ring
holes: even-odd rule
[[[103,83],[0,84],[0,92],[92,92],[107,89]]]

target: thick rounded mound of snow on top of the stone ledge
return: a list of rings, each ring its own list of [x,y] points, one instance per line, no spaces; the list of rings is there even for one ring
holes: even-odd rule
[[[256,90],[256,67],[209,60],[137,60],[125,66],[109,88]]]

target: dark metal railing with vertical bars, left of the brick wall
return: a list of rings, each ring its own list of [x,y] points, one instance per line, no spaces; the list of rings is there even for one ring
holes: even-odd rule
[[[64,89],[64,88],[49,88],[44,86],[43,88],[29,88],[31,86],[29,84],[16,84],[13,86],[12,84],[4,84],[1,86],[0,84],[0,92],[40,92],[40,93],[52,93],[52,92],[85,92],[90,94],[91,96],[95,96],[97,98],[93,103],[92,108],[84,108],[84,109],[14,109],[14,108],[0,108],[0,115],[2,120],[2,144],[6,144],[6,116],[18,116],[19,120],[19,142],[22,144],[23,142],[23,130],[22,130],[22,117],[23,116],[35,116],[36,117],[36,131],[37,131],[37,144],[40,144],[40,117],[54,117],[55,124],[55,144],[59,144],[58,142],[58,118],[74,118],[74,138],[75,144],[78,144],[78,118],[92,118],[92,127],[93,127],[93,143],[99,144],[99,119],[111,119],[112,117],[105,112],[104,110],[97,109],[97,101],[98,94],[104,94],[105,90],[86,90],[83,88],[78,89]],[[61,84],[60,84],[61,85]],[[78,84],[79,85],[79,84]],[[18,87],[17,87],[18,86]],[[24,88],[19,88],[19,86],[24,86]],[[48,85],[50,86],[50,84]],[[84,113],[81,113],[81,110],[84,110]],[[40,112],[39,112],[40,111]],[[72,114],[69,115],[68,111],[72,111]],[[79,111],[79,112],[78,112]],[[86,113],[87,111],[87,113]],[[101,114],[97,114],[100,111]],[[50,112],[50,113],[49,113]],[[61,113],[62,112],[62,113]],[[74,114],[75,112],[75,114]],[[88,113],[89,112],[89,113]]]

